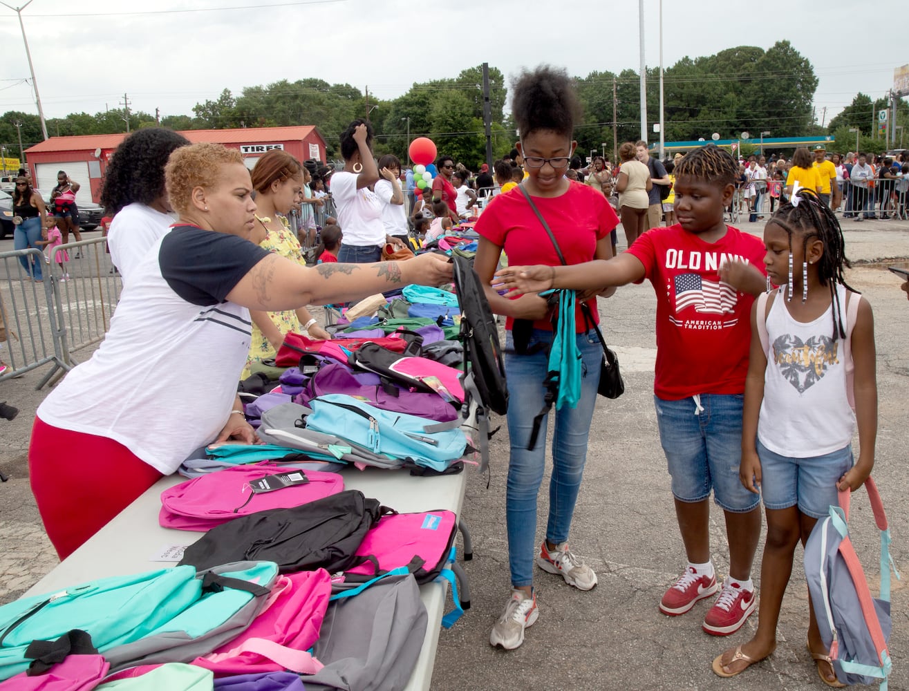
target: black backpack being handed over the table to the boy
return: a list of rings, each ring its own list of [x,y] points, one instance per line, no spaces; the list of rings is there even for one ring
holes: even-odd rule
[[[508,387],[505,385],[498,327],[480,277],[474,271],[473,262],[467,257],[452,253],[452,261],[454,289],[461,308],[461,332],[458,338],[464,344],[463,420],[426,429],[440,431],[458,423],[475,428],[478,438],[474,440],[474,446],[478,444],[480,447],[482,471],[489,465],[489,437],[497,431],[497,428],[493,432],[489,431],[489,411],[499,415],[508,411]]]

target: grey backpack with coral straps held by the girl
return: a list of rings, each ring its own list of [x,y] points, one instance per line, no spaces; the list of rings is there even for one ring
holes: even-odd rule
[[[840,492],[840,506],[818,521],[804,546],[804,574],[808,579],[814,618],[829,650],[836,678],[843,684],[874,684],[887,689],[892,666],[890,639],[890,569],[899,578],[890,556],[890,530],[874,480],[864,481],[874,521],[881,531],[881,591],[872,597],[862,564],[849,538],[849,490]]]

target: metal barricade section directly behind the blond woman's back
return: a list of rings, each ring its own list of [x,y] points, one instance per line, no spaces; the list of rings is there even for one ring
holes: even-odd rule
[[[60,342],[69,363],[76,351],[104,340],[123,282],[105,237],[55,247],[45,268],[52,276]]]

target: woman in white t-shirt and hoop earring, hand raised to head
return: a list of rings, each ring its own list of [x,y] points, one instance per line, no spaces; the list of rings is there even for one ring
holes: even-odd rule
[[[379,180],[372,142],[372,125],[359,118],[341,133],[344,170],[332,175],[332,196],[338,225],[344,232],[338,252],[338,261],[343,264],[377,262],[382,259],[385,243],[405,246],[385,233],[382,202],[370,189]]]

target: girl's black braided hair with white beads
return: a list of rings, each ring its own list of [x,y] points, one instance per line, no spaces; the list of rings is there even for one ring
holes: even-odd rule
[[[834,305],[834,341],[837,338],[845,338],[846,332],[836,285],[842,284],[853,293],[858,293],[859,291],[847,284],[843,275],[844,267],[850,268],[852,266],[845,255],[843,229],[840,227],[839,221],[836,220],[834,212],[814,192],[800,189],[795,193],[794,197],[795,204],[790,201],[781,205],[774,215],[770,217],[770,223],[779,225],[789,236],[789,286],[787,296],[792,299],[793,235],[798,235],[802,238],[803,256],[807,251],[809,240],[812,238],[820,240],[824,244],[824,253],[817,261],[817,277],[821,285],[827,285],[830,288],[830,298]],[[807,298],[808,284],[806,274],[807,265],[804,263],[802,267],[802,284],[804,286],[802,302]]]

